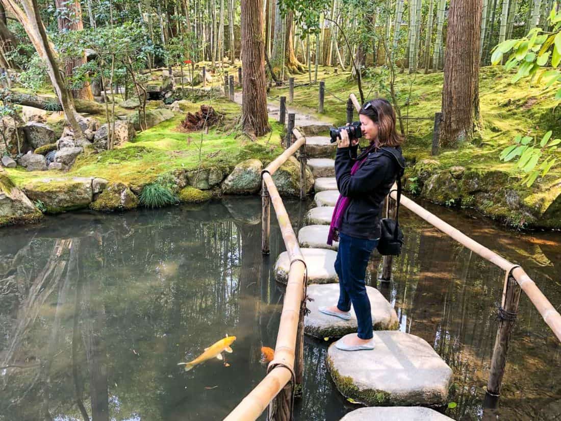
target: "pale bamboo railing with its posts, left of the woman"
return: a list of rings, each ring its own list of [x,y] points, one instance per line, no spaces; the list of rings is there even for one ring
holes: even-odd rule
[[[298,149],[301,150],[300,166],[305,171],[306,138],[297,129],[293,130],[293,134],[296,136],[295,143],[261,172],[263,180],[263,252],[269,253],[269,206],[272,202],[290,261],[274,359],[269,363],[265,378],[224,418],[224,421],[254,421],[267,406],[269,406],[269,420],[291,420],[294,388],[298,378],[302,378],[302,350],[304,347],[304,312],[302,309],[305,299],[306,266],[288,213],[272,177],[274,172]],[[306,179],[302,170],[300,175],[302,193],[306,189]]]

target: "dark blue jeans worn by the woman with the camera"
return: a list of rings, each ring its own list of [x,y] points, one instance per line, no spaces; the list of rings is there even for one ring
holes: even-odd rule
[[[378,245],[378,240],[364,240],[339,234],[339,251],[335,259],[335,272],[339,277],[339,302],[337,308],[342,312],[355,309],[358,322],[358,337],[373,337],[370,300],[366,295],[366,266],[370,254]]]

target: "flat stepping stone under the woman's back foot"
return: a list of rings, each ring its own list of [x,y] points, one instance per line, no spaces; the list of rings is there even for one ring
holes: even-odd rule
[[[388,303],[377,289],[367,286],[366,294],[370,300],[370,312],[372,314],[372,327],[374,330],[396,330],[398,320],[396,310]],[[351,319],[343,320],[327,314],[320,313],[321,306],[332,306],[337,304],[339,298],[339,284],[310,285],[308,296],[313,299],[306,303],[310,314],[304,318],[304,333],[315,338],[340,338],[348,333],[356,332],[358,324],[355,309],[351,306]]]

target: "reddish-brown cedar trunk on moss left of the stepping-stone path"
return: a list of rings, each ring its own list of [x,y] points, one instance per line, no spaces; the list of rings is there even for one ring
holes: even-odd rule
[[[255,136],[263,136],[270,130],[262,18],[260,0],[241,0],[241,56],[244,70],[242,127],[243,131]]]

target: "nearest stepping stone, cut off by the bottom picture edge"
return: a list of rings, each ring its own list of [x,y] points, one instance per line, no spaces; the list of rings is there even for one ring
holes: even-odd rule
[[[351,411],[339,421],[454,421],[453,418],[422,406],[376,406]]]

